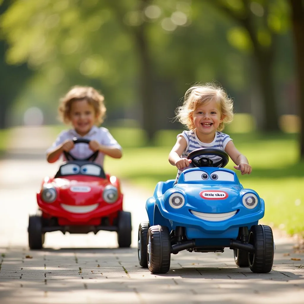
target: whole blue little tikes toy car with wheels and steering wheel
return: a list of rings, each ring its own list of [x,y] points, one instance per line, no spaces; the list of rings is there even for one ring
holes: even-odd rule
[[[210,156],[219,161],[212,161]],[[147,200],[149,222],[138,230],[138,259],[152,273],[166,273],[170,257],[189,252],[234,251],[240,267],[258,273],[271,271],[274,241],[271,227],[258,225],[264,200],[244,189],[223,150],[202,148],[191,152],[192,166],[174,180],[157,183]],[[214,159],[214,157],[213,157]]]

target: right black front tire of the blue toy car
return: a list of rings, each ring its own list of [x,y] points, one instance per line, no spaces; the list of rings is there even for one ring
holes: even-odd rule
[[[249,230],[248,243],[254,246],[254,252],[248,252],[250,270],[257,273],[270,272],[274,255],[271,228],[266,225],[252,226]]]

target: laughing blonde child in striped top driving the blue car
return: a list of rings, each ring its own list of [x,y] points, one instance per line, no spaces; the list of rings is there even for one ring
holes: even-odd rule
[[[236,164],[235,169],[242,174],[251,173],[247,158],[237,150],[229,135],[220,132],[224,123],[233,119],[233,101],[222,87],[214,84],[192,86],[185,93],[184,103],[177,108],[176,114],[176,119],[189,131],[178,134],[169,154],[170,164],[178,168],[175,183],[191,163],[188,154],[199,148],[224,150]],[[213,161],[217,158],[210,156]]]

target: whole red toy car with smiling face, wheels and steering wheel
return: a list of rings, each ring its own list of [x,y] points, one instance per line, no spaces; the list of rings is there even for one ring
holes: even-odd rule
[[[74,143],[89,143],[74,139]],[[123,211],[119,180],[105,174],[94,163],[98,151],[87,159],[76,159],[65,152],[64,162],[54,178],[44,178],[37,192],[41,215],[29,216],[29,248],[41,249],[44,234],[116,231],[119,247],[131,245],[131,213]]]

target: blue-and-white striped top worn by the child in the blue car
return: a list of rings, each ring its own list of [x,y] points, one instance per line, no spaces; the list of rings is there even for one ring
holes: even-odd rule
[[[199,140],[199,138],[196,135],[196,130],[194,131],[183,131],[183,133],[178,134],[176,138],[179,136],[182,136],[185,138],[187,142],[187,147],[184,150],[184,152],[181,154],[181,158],[183,157],[188,157],[189,153],[200,148],[216,148],[216,149],[221,149],[225,151],[227,143],[232,140],[229,135],[222,133],[222,132],[216,132],[214,136],[214,140],[211,143],[203,143],[202,141]],[[210,155],[208,156],[212,161],[219,161],[221,158],[218,156]],[[179,176],[181,175],[181,172],[188,169],[192,168],[191,164],[189,167],[183,168],[181,170],[178,170],[175,183],[177,183]]]

